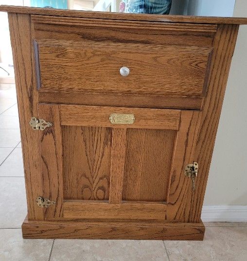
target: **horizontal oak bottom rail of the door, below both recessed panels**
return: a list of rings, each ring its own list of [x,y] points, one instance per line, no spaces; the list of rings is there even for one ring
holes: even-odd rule
[[[166,204],[156,202],[64,201],[65,218],[164,220]]]

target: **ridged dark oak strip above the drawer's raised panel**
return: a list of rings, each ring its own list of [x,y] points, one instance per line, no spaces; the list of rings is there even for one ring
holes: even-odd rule
[[[111,42],[212,47],[215,34],[215,25],[178,26],[176,23],[161,23],[161,26],[157,26],[157,23],[138,21],[133,26],[133,21],[88,19],[85,23],[85,19],[77,18],[76,22],[83,25],[71,26],[65,23],[64,18],[56,17],[61,24],[50,24],[50,17],[43,19],[48,23],[33,20],[35,39],[69,40],[78,43]]]

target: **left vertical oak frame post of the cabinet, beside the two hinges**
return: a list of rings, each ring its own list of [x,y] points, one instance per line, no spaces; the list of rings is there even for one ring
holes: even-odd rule
[[[36,197],[43,193],[39,132],[34,131],[29,125],[31,117],[37,117],[38,114],[30,15],[9,14],[8,17],[15,66],[28,219],[43,220],[43,209],[38,208],[35,203]]]

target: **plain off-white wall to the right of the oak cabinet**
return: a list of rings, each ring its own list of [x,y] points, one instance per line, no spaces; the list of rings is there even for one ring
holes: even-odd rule
[[[236,0],[234,17],[247,17]],[[204,205],[247,205],[247,26],[240,26],[213,151]]]

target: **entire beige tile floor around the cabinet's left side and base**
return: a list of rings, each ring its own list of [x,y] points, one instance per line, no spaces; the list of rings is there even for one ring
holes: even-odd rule
[[[0,261],[247,261],[247,223],[206,223],[202,242],[23,240],[27,209],[17,122],[15,87],[0,85]]]

